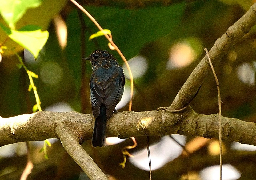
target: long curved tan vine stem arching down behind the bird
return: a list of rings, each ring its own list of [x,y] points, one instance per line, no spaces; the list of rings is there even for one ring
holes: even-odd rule
[[[99,30],[101,30],[105,37],[109,40],[109,42],[111,43],[112,46],[114,46],[115,50],[117,50],[118,54],[121,56],[121,58],[123,59],[123,61],[125,62],[125,65],[127,66],[127,69],[129,71],[129,75],[130,75],[130,81],[131,81],[131,100],[129,103],[129,111],[131,111],[131,105],[132,105],[132,99],[133,99],[133,74],[131,72],[130,66],[126,60],[126,58],[124,57],[124,55],[122,54],[122,52],[118,49],[118,47],[115,45],[115,43],[112,41],[112,37],[111,35],[107,35],[102,27],[99,25],[99,23],[92,17],[92,15],[90,13],[88,13],[79,3],[77,3],[75,0],[70,0],[71,2],[73,2],[79,9],[81,9],[81,11],[83,11],[90,19],[91,21],[93,21],[93,23],[99,28]]]

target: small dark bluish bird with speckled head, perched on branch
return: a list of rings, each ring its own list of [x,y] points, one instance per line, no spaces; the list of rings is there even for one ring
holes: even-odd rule
[[[117,59],[106,50],[95,50],[89,57],[92,74],[90,78],[90,101],[95,117],[91,145],[102,147],[106,143],[106,122],[121,100],[125,75]]]

